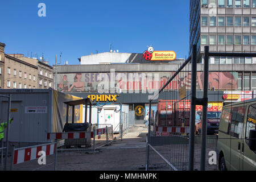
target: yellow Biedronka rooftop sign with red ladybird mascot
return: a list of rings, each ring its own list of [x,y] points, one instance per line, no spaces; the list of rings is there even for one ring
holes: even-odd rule
[[[147,51],[144,51],[143,57],[148,61],[173,61],[176,59],[176,53],[174,51],[154,51],[154,48],[150,46]]]

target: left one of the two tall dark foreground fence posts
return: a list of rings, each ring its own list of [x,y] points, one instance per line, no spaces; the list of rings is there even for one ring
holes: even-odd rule
[[[195,154],[195,120],[196,120],[196,45],[192,48],[192,65],[191,65],[191,107],[190,107],[190,127],[189,127],[189,163],[188,170],[194,169]]]

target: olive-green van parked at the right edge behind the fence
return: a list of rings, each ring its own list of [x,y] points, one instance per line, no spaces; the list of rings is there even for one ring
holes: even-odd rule
[[[256,99],[222,109],[217,139],[218,167],[256,171]]]

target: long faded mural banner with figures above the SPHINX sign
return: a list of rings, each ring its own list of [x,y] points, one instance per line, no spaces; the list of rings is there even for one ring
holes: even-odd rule
[[[98,92],[98,90],[118,93],[138,90],[158,90],[175,72],[136,73],[66,73],[57,75],[57,90],[62,92]],[[237,72],[209,72],[209,89],[236,90]],[[111,82],[112,81],[112,82]],[[203,72],[197,72],[197,90],[203,90]],[[191,73],[180,73],[165,89],[191,87]],[[136,92],[135,92],[136,93]]]

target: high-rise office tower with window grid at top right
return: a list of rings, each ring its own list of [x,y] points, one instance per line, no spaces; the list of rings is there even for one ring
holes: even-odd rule
[[[256,52],[256,0],[191,0],[189,52]],[[256,58],[212,57],[210,64],[255,64]]]

